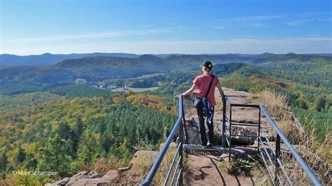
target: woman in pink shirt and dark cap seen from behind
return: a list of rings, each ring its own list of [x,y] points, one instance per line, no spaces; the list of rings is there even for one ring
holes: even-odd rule
[[[221,100],[223,100],[223,89],[219,83],[219,78],[211,74],[212,62],[206,61],[201,67],[203,74],[193,80],[193,86],[184,92],[182,96],[184,98],[184,96],[192,94],[194,90],[199,90],[193,102],[195,108],[197,108],[198,119],[200,120],[200,141],[203,148],[207,148],[207,146],[214,143],[213,116],[214,106],[216,105],[214,90],[216,87],[218,88]],[[207,118],[207,129],[205,128],[205,118]]]

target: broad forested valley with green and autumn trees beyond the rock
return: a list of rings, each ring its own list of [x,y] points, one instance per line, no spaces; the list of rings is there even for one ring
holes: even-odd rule
[[[214,63],[212,73],[223,87],[282,94],[317,141],[331,137],[332,57],[264,53],[64,59],[0,69],[0,177],[15,180],[11,172],[21,169],[56,170],[60,177],[102,165],[117,169],[137,150],[158,149],[177,120],[174,96],[191,87],[206,59]],[[41,184],[58,178],[31,177]]]

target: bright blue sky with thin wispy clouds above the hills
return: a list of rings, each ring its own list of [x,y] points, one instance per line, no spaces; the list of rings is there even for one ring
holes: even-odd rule
[[[1,54],[332,52],[331,1],[0,1]]]

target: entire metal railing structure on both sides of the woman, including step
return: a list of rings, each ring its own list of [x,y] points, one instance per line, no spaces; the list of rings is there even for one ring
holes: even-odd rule
[[[229,106],[229,116],[226,113],[226,108]],[[258,109],[258,124],[242,124],[238,122],[232,121],[232,108],[234,107],[250,107],[250,108],[257,108]],[[270,122],[272,128],[276,131],[276,141],[275,145],[272,145],[270,141],[268,141],[268,134],[261,128],[261,113],[265,115],[268,122]],[[237,104],[232,103],[228,96],[223,96],[223,126],[222,126],[222,145],[213,145],[209,148],[202,148],[202,145],[193,145],[188,144],[188,138],[186,133],[186,120],[184,117],[184,106],[182,102],[182,96],[179,95],[179,119],[177,120],[174,128],[172,129],[170,136],[168,136],[165,145],[163,146],[160,154],[158,155],[155,163],[153,164],[151,171],[148,173],[146,180],[144,180],[141,185],[151,185],[153,183],[153,178],[155,173],[158,171],[158,167],[160,166],[163,157],[167,152],[167,149],[170,146],[170,143],[174,139],[175,136],[179,136],[179,143],[177,146],[177,150],[174,152],[174,157],[172,159],[172,164],[170,169],[165,176],[164,185],[183,185],[183,176],[184,176],[184,150],[191,150],[191,151],[221,151],[228,148],[229,152],[229,160],[230,160],[230,152],[232,148],[237,147],[238,145],[232,145],[232,137],[247,137],[247,138],[256,138],[258,141],[258,145],[255,147],[248,147],[248,148],[256,148],[257,152],[261,155],[261,159],[265,164],[265,169],[268,172],[270,182],[272,185],[293,185],[293,180],[291,180],[290,176],[286,172],[284,165],[282,163],[282,159],[279,158],[280,156],[280,144],[283,142],[288,148],[290,154],[296,159],[296,162],[300,165],[300,167],[305,172],[305,175],[310,178],[312,184],[314,185],[321,185],[321,182],[318,178],[314,175],[312,170],[309,166],[303,161],[302,157],[298,155],[298,152],[293,148],[291,143],[287,140],[287,138],[282,134],[282,131],[277,127],[277,124],[272,120],[268,112],[265,108],[261,105],[253,105],[253,104]],[[249,126],[249,127],[257,127],[256,135],[242,135],[242,134],[232,134],[232,127],[234,126]],[[177,134],[178,132],[178,134]],[[177,134],[177,135],[176,135]],[[263,134],[263,136],[261,136]],[[177,163],[176,163],[177,162]],[[174,167],[174,164],[175,167]],[[172,174],[172,179],[171,178]]]

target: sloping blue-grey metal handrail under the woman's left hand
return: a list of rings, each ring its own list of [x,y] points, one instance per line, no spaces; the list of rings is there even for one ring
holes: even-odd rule
[[[162,147],[162,150],[160,151],[157,159],[155,160],[155,163],[153,164],[150,172],[148,173],[148,176],[146,177],[144,182],[141,183],[140,185],[151,185],[153,178],[155,176],[155,173],[157,173],[158,168],[162,162],[162,159],[165,157],[167,149],[169,148],[170,143],[172,142],[174,135],[178,129],[179,129],[179,143],[178,143],[177,151],[175,152],[175,155],[173,157],[172,164],[170,165],[170,169],[164,180],[164,185],[167,185],[167,183],[170,179],[170,176],[172,174],[172,170],[173,170],[176,160],[177,160],[177,166],[175,167],[175,171],[173,173],[170,185],[174,185],[174,183],[175,183],[175,185],[183,185],[182,184],[183,183],[183,162],[184,162],[183,145],[184,145],[184,141],[185,141],[184,122],[185,122],[184,106],[183,106],[183,102],[182,102],[182,95],[179,94],[179,119],[175,123],[175,125],[170,133],[170,136],[168,136],[167,141],[166,141],[165,145]]]

